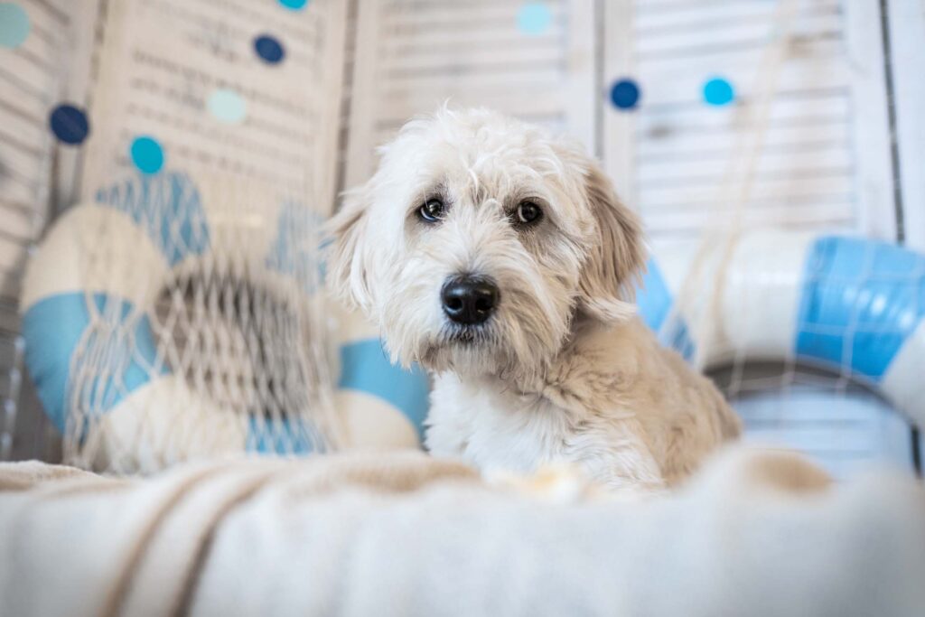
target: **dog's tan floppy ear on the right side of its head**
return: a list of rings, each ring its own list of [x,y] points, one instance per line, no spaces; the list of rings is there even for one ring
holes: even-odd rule
[[[588,161],[585,191],[597,237],[579,281],[579,308],[604,323],[617,323],[635,310],[635,282],[646,262],[642,226],[595,161]]]

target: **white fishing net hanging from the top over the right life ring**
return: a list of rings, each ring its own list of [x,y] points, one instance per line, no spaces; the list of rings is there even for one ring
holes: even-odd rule
[[[657,253],[673,257],[678,290],[660,338],[711,372],[746,438],[802,450],[835,475],[871,460],[920,468],[925,407],[906,373],[917,364],[909,350],[925,314],[925,257],[851,228],[840,236],[838,225],[775,224],[796,205],[757,194],[805,10],[796,0],[775,5],[750,94],[724,135],[734,139],[706,206],[709,227],[678,239],[673,255]],[[796,171],[779,179],[800,182]]]

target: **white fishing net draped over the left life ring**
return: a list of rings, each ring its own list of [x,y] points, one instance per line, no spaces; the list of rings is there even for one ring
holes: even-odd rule
[[[65,393],[67,463],[144,472],[338,442],[319,219],[274,194],[162,172],[63,217],[54,233],[69,239],[52,244],[74,243],[93,290],[68,307],[86,327]]]

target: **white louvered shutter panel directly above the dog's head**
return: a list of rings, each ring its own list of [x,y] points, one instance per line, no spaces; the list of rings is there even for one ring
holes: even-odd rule
[[[359,0],[347,184],[376,145],[444,101],[479,105],[594,145],[594,3],[551,0],[551,23],[518,28],[520,0]]]

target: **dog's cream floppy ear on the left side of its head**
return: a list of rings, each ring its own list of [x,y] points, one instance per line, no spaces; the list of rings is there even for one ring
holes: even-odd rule
[[[360,247],[368,201],[364,189],[346,194],[344,204],[325,225],[327,285],[351,308],[371,310],[367,257]]]

